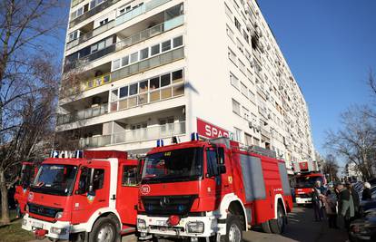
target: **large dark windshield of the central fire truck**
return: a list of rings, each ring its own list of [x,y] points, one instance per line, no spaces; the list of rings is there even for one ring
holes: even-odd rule
[[[187,181],[203,175],[203,149],[169,150],[148,155],[143,183]]]

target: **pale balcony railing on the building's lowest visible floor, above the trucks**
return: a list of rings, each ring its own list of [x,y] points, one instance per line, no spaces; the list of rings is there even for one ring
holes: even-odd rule
[[[152,126],[134,131],[123,131],[111,135],[95,136],[80,140],[80,148],[104,147],[146,140],[157,140],[185,133],[185,121]]]

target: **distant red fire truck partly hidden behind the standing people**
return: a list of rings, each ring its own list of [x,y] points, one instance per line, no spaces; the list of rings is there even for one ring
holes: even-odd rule
[[[315,182],[319,180],[325,185],[325,177],[320,172],[301,173],[296,177],[295,182],[295,198],[296,204],[304,205],[312,203],[312,188]]]

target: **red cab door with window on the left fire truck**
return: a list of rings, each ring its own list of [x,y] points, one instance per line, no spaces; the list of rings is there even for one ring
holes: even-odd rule
[[[86,222],[96,210],[109,206],[110,167],[82,167],[74,191],[72,223]]]

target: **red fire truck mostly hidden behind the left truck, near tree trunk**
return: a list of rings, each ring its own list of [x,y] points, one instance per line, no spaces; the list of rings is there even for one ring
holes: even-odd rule
[[[25,213],[29,186],[35,177],[36,171],[37,166],[34,162],[22,162],[20,180],[15,186],[15,203],[19,208],[19,214],[17,214],[17,216],[21,216]]]

